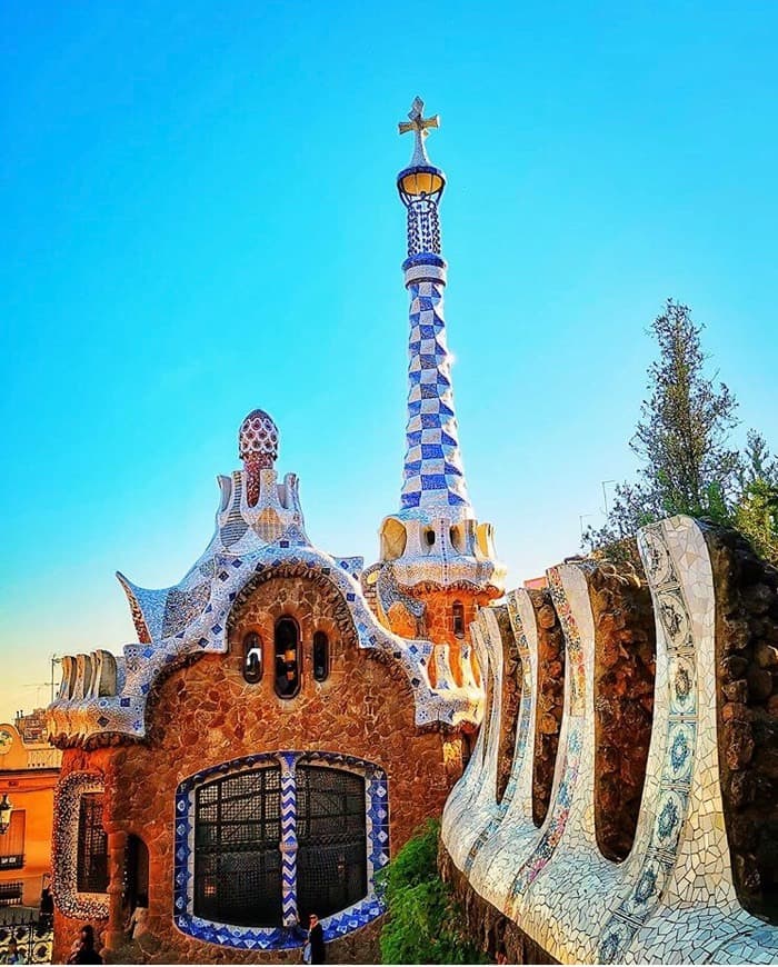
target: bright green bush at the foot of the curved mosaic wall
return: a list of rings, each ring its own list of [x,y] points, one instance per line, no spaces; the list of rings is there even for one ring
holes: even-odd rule
[[[465,917],[438,874],[440,824],[429,819],[378,874],[388,916],[383,964],[486,964],[465,930]]]

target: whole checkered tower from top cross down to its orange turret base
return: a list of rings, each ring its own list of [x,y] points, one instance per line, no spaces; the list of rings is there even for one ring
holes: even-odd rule
[[[446,175],[425,144],[440,119],[425,118],[423,108],[416,98],[409,120],[399,124],[401,134],[413,134],[410,165],[397,176],[407,212],[402,272],[410,298],[400,510],[381,525],[381,559],[366,571],[365,586],[392,630],[448,645],[457,678],[468,625],[479,606],[502,594],[505,568],[496,560],[491,525],[476,519],[465,480],[443,317],[439,205]]]

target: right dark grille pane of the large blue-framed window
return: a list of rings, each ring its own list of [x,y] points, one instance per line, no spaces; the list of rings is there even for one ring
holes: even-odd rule
[[[327,917],[368,891],[365,779],[297,767],[297,901],[300,920]]]

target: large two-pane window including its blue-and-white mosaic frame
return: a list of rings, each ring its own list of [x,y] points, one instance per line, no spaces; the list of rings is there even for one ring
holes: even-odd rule
[[[338,935],[380,916],[375,875],[390,854],[387,775],[352,757],[343,769],[342,758],[252,755],[178,786],[173,916],[182,933],[202,939],[207,920],[218,928],[212,944],[250,940],[273,950],[301,944],[296,930],[278,928],[312,913],[323,919],[348,910],[325,927]]]

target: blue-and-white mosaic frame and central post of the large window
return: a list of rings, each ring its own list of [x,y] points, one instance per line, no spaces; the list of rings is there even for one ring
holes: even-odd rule
[[[376,890],[375,876],[389,863],[389,785],[386,771],[375,762],[327,751],[273,751],[242,756],[211,766],[183,779],[176,789],[174,801],[174,850],[173,850],[173,923],[190,937],[207,944],[232,947],[243,950],[285,950],[301,947],[303,934],[296,925],[297,880],[293,873],[296,853],[285,850],[282,873],[283,927],[239,927],[219,924],[197,917],[193,914],[194,881],[194,800],[196,791],[213,778],[223,778],[233,772],[258,769],[269,764],[281,766],[282,830],[285,845],[293,830],[292,805],[296,800],[296,785],[285,780],[298,764],[321,765],[343,769],[365,778],[366,794],[366,838],[367,838],[367,895],[346,909],[321,920],[325,940],[335,940],[380,917],[385,904]],[[287,860],[287,857],[289,858]]]

